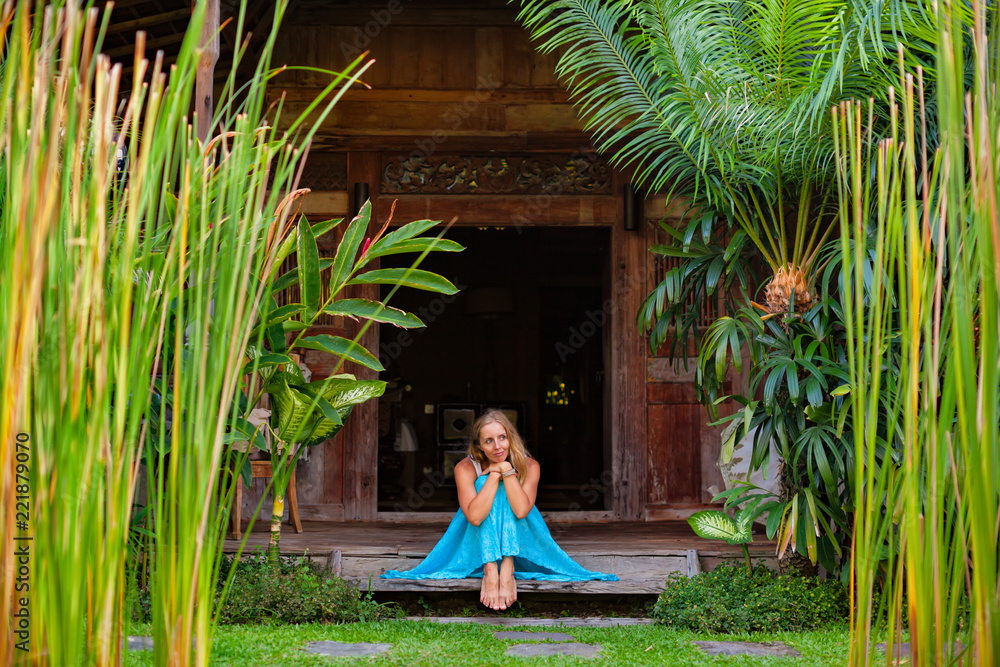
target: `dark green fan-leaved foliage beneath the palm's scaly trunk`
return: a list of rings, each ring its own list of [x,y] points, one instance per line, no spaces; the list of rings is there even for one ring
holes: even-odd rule
[[[805,313],[779,318],[751,306],[718,319],[702,341],[697,370],[704,403],[714,410],[731,398],[742,406],[725,418],[732,428],[723,456],[753,434],[751,469],[768,467],[772,445],[782,459],[781,496],[767,508],[768,537],[833,573],[840,572],[851,540],[854,488],[847,338],[843,309],[832,296],[841,279],[840,263],[831,262],[823,297]],[[891,340],[886,349],[891,369],[897,356]],[[723,382],[744,353],[750,357],[746,393],[724,396]],[[875,390],[880,409],[891,414],[898,393],[892,378]],[[875,435],[878,459],[895,456],[898,434]],[[727,493],[743,502],[756,491],[745,486]]]

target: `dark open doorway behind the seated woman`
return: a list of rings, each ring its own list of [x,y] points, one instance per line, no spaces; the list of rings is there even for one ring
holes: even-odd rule
[[[466,250],[432,254],[421,268],[462,291],[400,290],[390,305],[427,327],[379,332],[390,383],[379,402],[379,511],[456,510],[463,429],[488,407],[517,419],[539,461],[539,509],[605,509],[609,230],[459,228],[447,237]],[[405,266],[393,259],[382,266]]]

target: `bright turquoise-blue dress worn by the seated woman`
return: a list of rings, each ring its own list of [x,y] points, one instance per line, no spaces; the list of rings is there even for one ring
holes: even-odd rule
[[[488,477],[487,473],[476,479],[476,493]],[[515,579],[618,581],[613,574],[585,570],[570,558],[552,539],[538,508],[532,507],[528,516],[518,519],[503,484],[497,487],[493,507],[481,524],[473,526],[459,510],[427,558],[412,570],[389,570],[382,578],[481,578],[484,563],[500,561],[504,556],[514,557]]]

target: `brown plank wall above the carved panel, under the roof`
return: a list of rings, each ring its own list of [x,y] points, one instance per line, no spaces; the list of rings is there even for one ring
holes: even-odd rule
[[[515,10],[502,2],[296,3],[276,61],[343,70],[362,50],[374,62],[334,108],[317,147],[374,147],[407,153],[589,146],[555,56],[539,55]],[[288,113],[330,81],[290,71]]]

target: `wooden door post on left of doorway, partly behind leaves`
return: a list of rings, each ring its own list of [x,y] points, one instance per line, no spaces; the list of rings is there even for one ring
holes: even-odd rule
[[[371,222],[368,236],[378,232],[379,155],[378,153],[351,153],[347,158],[347,189],[353,197],[355,183],[368,183],[372,201]],[[358,202],[357,206],[364,202]],[[353,206],[352,202],[352,206]],[[376,268],[369,265],[366,268]],[[351,296],[362,299],[379,299],[378,285],[359,285]],[[357,329],[350,333],[355,335]],[[378,325],[365,332],[360,343],[378,356]],[[348,370],[359,380],[376,380],[378,373],[351,364]],[[365,401],[355,406],[344,424],[344,519],[347,521],[374,521],[378,517],[378,401]]]

